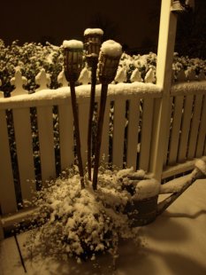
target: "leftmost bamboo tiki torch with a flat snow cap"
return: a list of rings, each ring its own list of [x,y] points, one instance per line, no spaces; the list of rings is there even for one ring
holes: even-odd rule
[[[68,40],[63,42],[64,49],[64,68],[65,68],[65,78],[70,83],[71,99],[72,99],[72,114],[74,122],[74,133],[76,137],[77,145],[77,158],[78,158],[78,168],[80,172],[80,185],[83,189],[84,185],[84,169],[81,159],[80,152],[80,127],[79,118],[77,112],[77,100],[75,93],[75,82],[80,76],[80,71],[82,69],[83,63],[83,43],[78,40]]]

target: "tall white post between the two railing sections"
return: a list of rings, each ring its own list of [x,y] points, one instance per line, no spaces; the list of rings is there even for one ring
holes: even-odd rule
[[[166,143],[166,124],[172,85],[172,60],[177,27],[177,14],[172,12],[172,0],[162,0],[156,64],[156,85],[163,89],[163,98],[156,99],[154,129],[149,170],[161,180]]]

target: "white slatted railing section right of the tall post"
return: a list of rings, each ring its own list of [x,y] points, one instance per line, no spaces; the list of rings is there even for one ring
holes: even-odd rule
[[[206,82],[173,85],[167,119],[162,178],[192,169],[206,155]]]

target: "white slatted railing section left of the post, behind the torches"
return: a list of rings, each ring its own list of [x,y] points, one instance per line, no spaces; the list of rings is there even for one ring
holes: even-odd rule
[[[101,86],[97,85],[97,103],[100,89]],[[76,91],[80,120],[81,152],[85,166],[87,161],[90,85],[79,86]],[[128,167],[134,166],[134,169],[149,170],[149,144],[155,98],[161,98],[161,89],[154,84],[122,83],[110,85],[103,124],[102,155],[104,155],[105,161],[109,161],[110,155],[112,163],[120,168],[123,167],[123,163],[126,161],[126,166]],[[0,119],[2,125],[0,142],[0,196],[1,211],[3,214],[14,212],[17,209],[17,195],[13,184],[6,110],[12,110],[19,168],[19,190],[24,201],[31,200],[31,188],[35,189],[35,183],[32,181],[35,179],[35,168],[31,131],[31,107],[36,108],[42,182],[45,183],[46,180],[57,177],[53,106],[56,106],[58,113],[58,132],[56,130],[56,135],[58,134],[59,137],[56,138],[59,139],[57,146],[59,146],[60,166],[61,170],[63,170],[71,166],[75,157],[73,152],[74,138],[70,88],[40,90],[30,95],[0,99]],[[141,108],[142,111],[140,111]],[[140,145],[140,140],[138,140],[140,137],[144,142],[141,142],[141,146],[138,146]],[[140,149],[137,151],[138,147]]]

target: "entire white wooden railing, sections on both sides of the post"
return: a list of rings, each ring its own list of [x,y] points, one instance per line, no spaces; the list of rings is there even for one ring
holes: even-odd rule
[[[44,86],[43,86],[44,87]],[[18,93],[20,94],[19,87]],[[101,85],[96,86],[98,106]],[[81,152],[87,162],[87,132],[90,85],[76,88],[78,98]],[[103,124],[102,155],[104,161],[123,167],[151,171],[151,146],[156,131],[156,112],[163,91],[155,84],[119,83],[109,86]],[[164,161],[158,165],[162,178],[193,168],[195,158],[206,155],[206,82],[176,83],[168,99],[167,127],[164,129]],[[53,108],[56,106],[56,125]],[[35,190],[35,166],[30,108],[36,109],[37,140],[42,183],[57,177],[59,147],[60,170],[72,165],[75,158],[70,88],[39,90],[11,98],[0,98],[0,198],[1,212],[18,209],[19,197],[24,203]],[[7,128],[7,110],[12,111],[19,178],[14,185],[13,163]],[[10,112],[11,112],[10,111]],[[55,132],[55,137],[54,137]],[[17,165],[17,164],[16,164]],[[17,191],[18,190],[18,191]],[[17,193],[18,192],[18,193]],[[19,195],[20,194],[20,195]],[[19,196],[19,197],[18,197]]]

